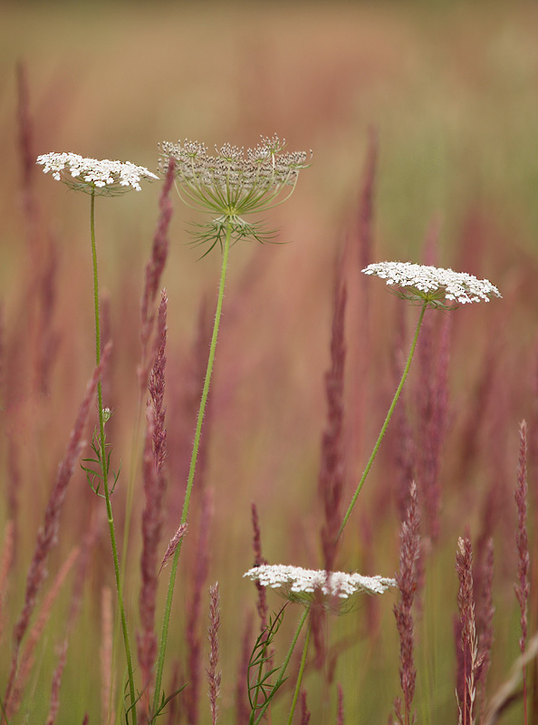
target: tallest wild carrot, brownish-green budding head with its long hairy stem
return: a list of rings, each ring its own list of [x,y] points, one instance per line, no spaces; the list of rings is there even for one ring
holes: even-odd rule
[[[293,193],[299,177],[299,171],[308,166],[306,153],[296,151],[283,153],[284,141],[277,136],[262,137],[255,149],[244,149],[226,143],[216,149],[216,156],[210,156],[204,144],[185,140],[183,143],[163,141],[159,144],[162,159],[160,171],[169,171],[174,160],[174,174],[179,197],[191,208],[211,214],[206,224],[197,225],[195,242],[207,242],[206,254],[218,242],[222,248],[220,283],[216,299],[215,322],[209,345],[206,377],[197,414],[197,426],[188,469],[187,487],[181,514],[181,524],[187,522],[190,497],[194,485],[197,460],[202,434],[202,422],[206,411],[209,385],[213,373],[216,354],[216,340],[222,314],[228,256],[233,242],[242,238],[255,238],[259,242],[268,241],[271,233],[264,233],[261,222],[246,222],[247,214],[263,211],[281,204]],[[205,256],[205,255],[204,255]],[[172,605],[172,595],[178,570],[181,541],[175,549],[168,581],[167,604],[162,623],[161,646],[155,676],[153,711],[159,710],[162,671],[166,655],[168,624]]]

